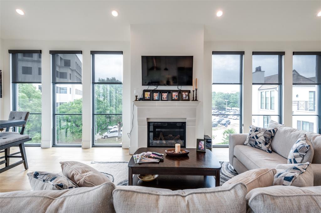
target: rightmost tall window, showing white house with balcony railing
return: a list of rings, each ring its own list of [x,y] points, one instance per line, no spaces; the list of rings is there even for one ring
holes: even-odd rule
[[[293,52],[292,127],[320,133],[321,52]]]

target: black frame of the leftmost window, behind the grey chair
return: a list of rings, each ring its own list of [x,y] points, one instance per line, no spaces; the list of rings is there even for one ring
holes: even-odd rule
[[[12,79],[13,81],[11,82],[12,84],[12,110],[13,111],[18,111],[18,84],[40,84],[42,86],[41,81],[37,81],[37,82],[19,82],[18,78],[17,78],[17,68],[18,68],[18,54],[22,53],[22,54],[32,54],[32,53],[38,53],[39,55],[41,55],[41,50],[8,50],[9,54],[11,55],[11,69],[12,69]],[[24,57],[24,56],[22,56]],[[30,57],[28,57],[30,58]],[[32,57],[33,58],[33,57]],[[40,57],[41,59],[41,57]],[[41,94],[42,94],[42,89],[40,90]],[[42,112],[41,113],[34,113],[34,112],[30,112],[29,115],[41,115],[42,116]],[[13,131],[17,131],[18,128],[13,127]],[[42,133],[40,132],[41,137],[42,137]],[[42,140],[42,139],[41,139]],[[25,143],[25,146],[41,146],[41,142],[40,143]]]

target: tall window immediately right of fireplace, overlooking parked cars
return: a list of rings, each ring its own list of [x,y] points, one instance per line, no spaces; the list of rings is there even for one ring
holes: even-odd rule
[[[229,135],[242,132],[242,74],[244,52],[213,51],[213,145],[229,145]]]

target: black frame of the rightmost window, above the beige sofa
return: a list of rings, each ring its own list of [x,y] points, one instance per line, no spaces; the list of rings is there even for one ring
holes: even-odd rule
[[[316,86],[316,92],[317,95],[319,95],[319,98],[316,102],[316,114],[314,115],[303,115],[303,114],[292,114],[293,116],[316,116],[317,117],[317,133],[321,134],[321,51],[317,52],[293,52],[293,55],[315,55],[316,56],[316,83],[293,83],[292,81],[292,91],[293,91],[293,86],[295,85],[307,85],[307,86]],[[293,104],[294,101],[292,101]],[[302,118],[301,118],[302,119]],[[293,126],[293,124],[292,124]],[[301,121],[301,128],[302,128],[302,121]]]

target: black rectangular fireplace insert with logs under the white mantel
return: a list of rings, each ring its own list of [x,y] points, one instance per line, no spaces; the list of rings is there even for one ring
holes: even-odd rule
[[[147,147],[186,147],[186,122],[148,122]]]

